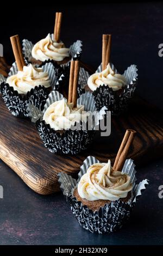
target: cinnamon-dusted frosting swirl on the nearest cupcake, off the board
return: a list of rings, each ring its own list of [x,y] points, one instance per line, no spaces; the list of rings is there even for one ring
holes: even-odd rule
[[[79,196],[89,200],[115,201],[127,197],[133,188],[130,176],[113,170],[108,163],[95,163],[87,169],[78,184]]]

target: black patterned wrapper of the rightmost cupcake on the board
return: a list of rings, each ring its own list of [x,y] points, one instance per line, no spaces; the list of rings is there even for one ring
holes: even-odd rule
[[[116,72],[113,64],[111,68]],[[102,72],[102,64],[98,67],[96,72]],[[119,115],[127,110],[129,100],[133,97],[137,84],[137,68],[136,65],[131,65],[124,71],[123,74],[127,79],[127,87],[120,91],[114,91],[109,86],[99,86],[92,94],[95,97],[96,108],[99,111],[102,107],[106,107],[111,111],[112,115]],[[89,78],[87,71],[83,71],[85,80]],[[84,88],[84,87],[82,87]]]

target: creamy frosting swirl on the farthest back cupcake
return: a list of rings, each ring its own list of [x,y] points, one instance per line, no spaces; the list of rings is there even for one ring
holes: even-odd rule
[[[69,57],[69,48],[65,48],[63,42],[57,42],[51,39],[50,34],[46,38],[37,42],[32,49],[32,56],[36,60],[55,60],[60,62],[65,57]]]

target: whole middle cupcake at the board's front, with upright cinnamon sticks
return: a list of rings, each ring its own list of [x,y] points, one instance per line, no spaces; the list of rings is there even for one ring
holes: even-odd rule
[[[62,94],[52,91],[42,112],[33,105],[28,106],[40,138],[54,154],[74,155],[87,149],[95,136],[96,125],[105,114],[105,108],[96,112],[92,94],[87,92],[77,100],[78,76],[76,60],[71,62],[68,102]]]

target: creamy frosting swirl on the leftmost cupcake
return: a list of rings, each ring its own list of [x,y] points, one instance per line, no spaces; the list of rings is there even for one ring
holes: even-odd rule
[[[9,76],[7,83],[19,94],[27,94],[35,86],[51,86],[48,73],[44,72],[42,68],[35,68],[32,64],[23,66],[23,71],[18,71],[16,75]]]

